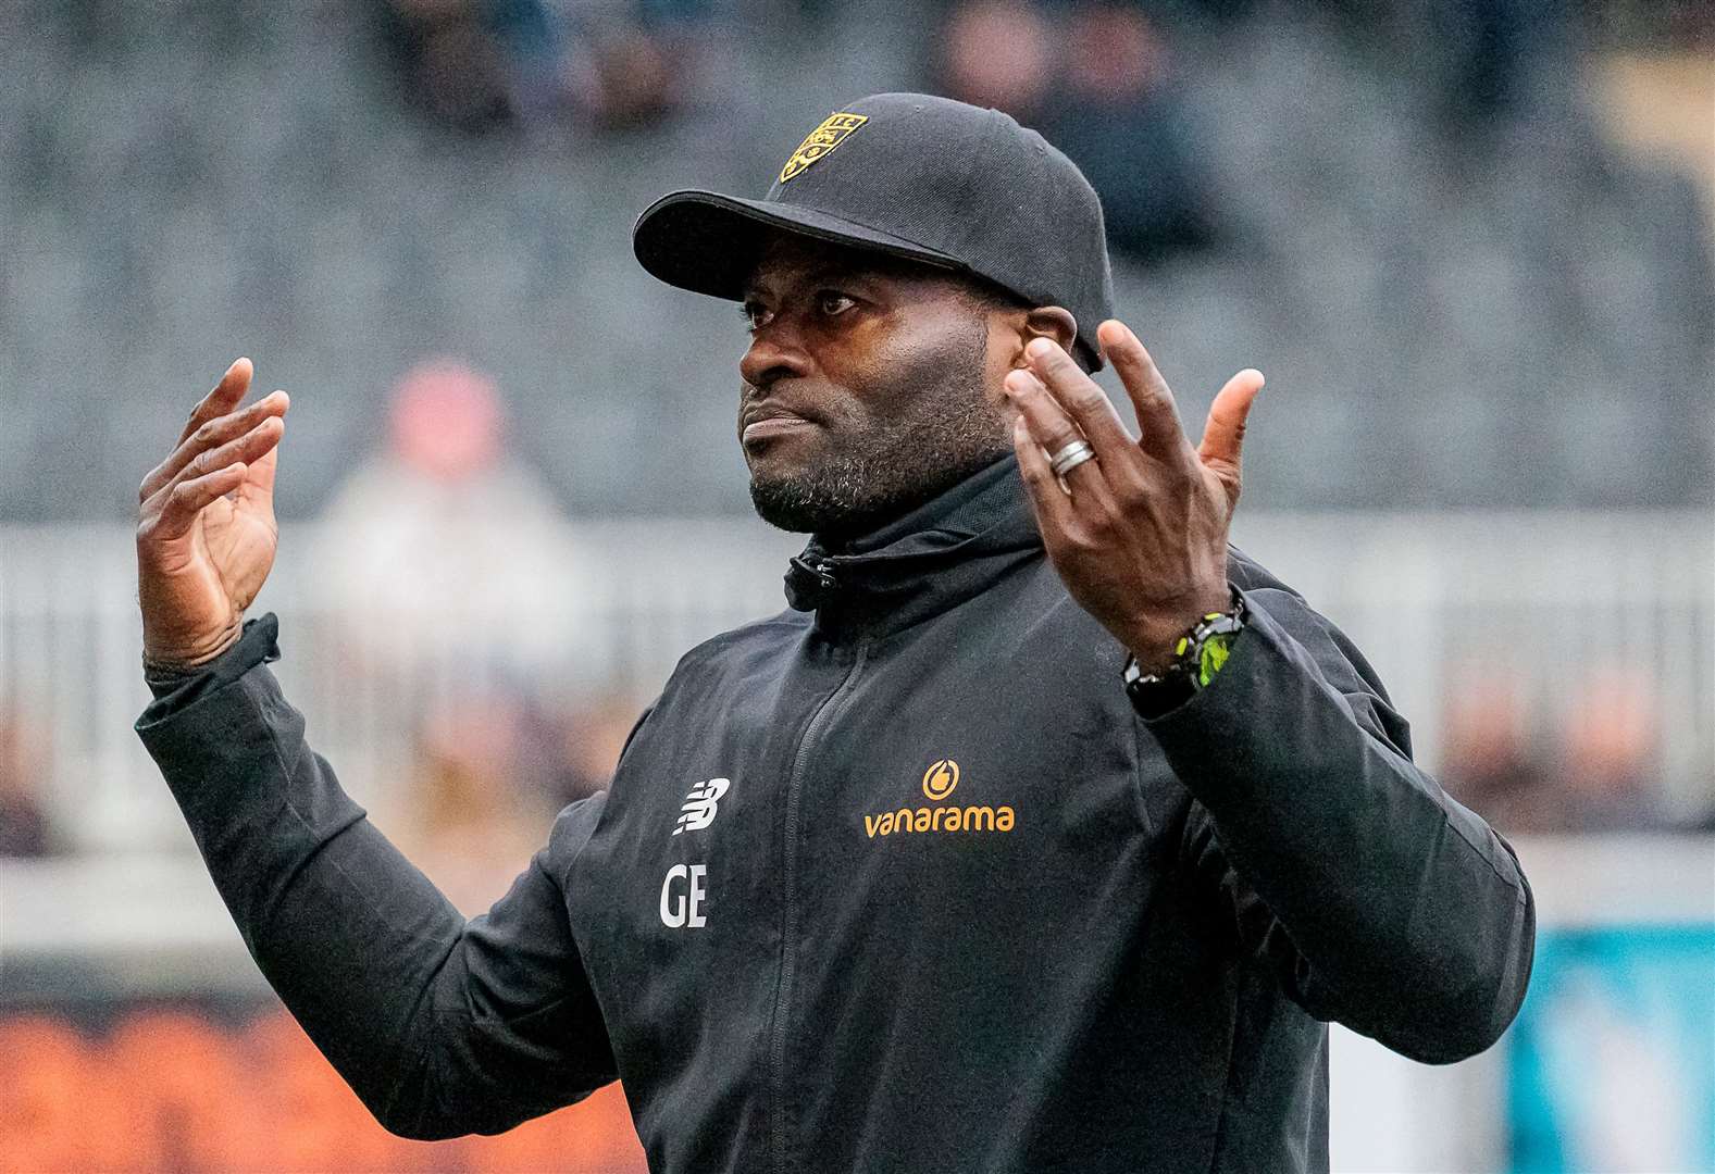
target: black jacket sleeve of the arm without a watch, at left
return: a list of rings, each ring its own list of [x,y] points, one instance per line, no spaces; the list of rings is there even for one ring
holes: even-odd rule
[[[137,734],[257,967],[376,1119],[499,1133],[614,1080],[563,881],[605,795],[465,920],[340,788],[262,663],[273,615],[158,696]]]

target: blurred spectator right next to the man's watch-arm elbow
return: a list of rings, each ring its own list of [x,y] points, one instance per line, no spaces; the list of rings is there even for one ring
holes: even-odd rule
[[[1454,672],[1441,737],[1447,792],[1497,831],[1564,830],[1566,795],[1535,747],[1519,677],[1492,663]]]

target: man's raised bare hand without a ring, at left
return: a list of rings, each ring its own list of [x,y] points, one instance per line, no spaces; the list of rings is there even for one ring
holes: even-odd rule
[[[290,399],[276,391],[238,410],[250,372],[249,358],[226,368],[137,492],[137,602],[151,665],[189,668],[226,651],[274,566],[274,461]]]

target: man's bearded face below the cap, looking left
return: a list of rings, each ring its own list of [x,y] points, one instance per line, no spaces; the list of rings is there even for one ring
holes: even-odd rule
[[[935,269],[777,237],[744,298],[739,444],[782,530],[851,536],[1012,451],[1005,331]]]

